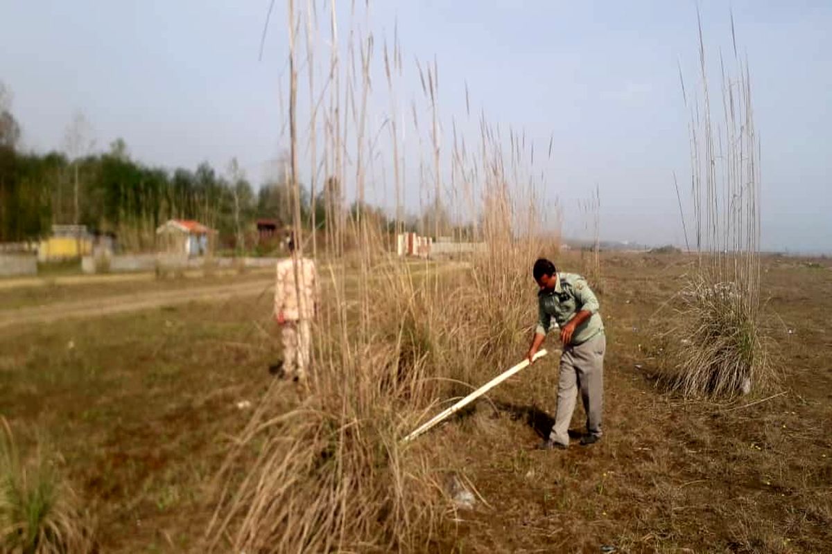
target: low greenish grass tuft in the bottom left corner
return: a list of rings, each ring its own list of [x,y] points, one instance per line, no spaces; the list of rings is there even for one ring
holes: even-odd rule
[[[42,452],[24,460],[6,419],[0,423],[0,552],[93,552],[90,520],[72,488]]]

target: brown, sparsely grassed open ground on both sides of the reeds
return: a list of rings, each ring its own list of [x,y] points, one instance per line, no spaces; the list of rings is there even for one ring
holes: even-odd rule
[[[685,403],[650,378],[656,333],[672,316],[666,302],[691,259],[603,256],[595,287],[607,326],[604,439],[533,450],[553,414],[557,360],[493,390],[490,402],[418,439],[441,445],[448,470],[464,471],[484,500],[459,511],[456,532],[433,550],[832,552],[830,266],[765,257],[765,327],[783,382],[720,405]],[[125,283],[0,294],[0,321],[12,311],[17,320],[0,331],[0,414],[22,447],[60,454],[97,517],[102,552],[198,548],[212,477],[250,416],[245,401],[260,399],[265,367],[280,355],[270,295],[254,292],[267,287],[263,278],[142,282],[131,297],[163,302],[48,323],[23,321],[42,313],[38,305],[125,297]],[[189,296],[203,287],[228,294]],[[291,404],[293,387],[278,386]],[[574,429],[582,417],[579,408]]]

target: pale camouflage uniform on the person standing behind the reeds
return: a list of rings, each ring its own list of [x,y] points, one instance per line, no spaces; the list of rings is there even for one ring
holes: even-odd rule
[[[310,361],[310,320],[314,318],[317,302],[318,274],[314,262],[295,256],[280,260],[275,281],[275,316],[282,313],[285,319],[280,336],[286,375],[300,379],[306,375]]]

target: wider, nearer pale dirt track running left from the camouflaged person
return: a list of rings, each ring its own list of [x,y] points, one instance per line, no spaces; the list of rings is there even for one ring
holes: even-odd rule
[[[110,316],[129,311],[174,306],[188,302],[216,302],[230,297],[270,294],[273,282],[264,277],[255,282],[231,283],[213,287],[191,287],[173,291],[147,291],[95,299],[54,302],[47,306],[22,307],[0,311],[0,329],[30,323],[49,323],[67,318]]]

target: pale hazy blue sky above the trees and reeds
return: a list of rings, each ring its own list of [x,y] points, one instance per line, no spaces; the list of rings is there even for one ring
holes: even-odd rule
[[[276,0],[258,61],[268,5],[0,0],[0,81],[14,94],[25,145],[61,148],[82,110],[98,148],[121,136],[137,159],[168,167],[207,159],[223,169],[236,155],[259,180],[285,148],[285,2]],[[730,52],[729,4],[700,8],[716,61],[718,48]],[[746,0],[730,9],[754,87],[764,246],[830,252],[832,2]],[[544,169],[567,234],[584,232],[577,202],[598,184],[603,238],[684,242],[672,173],[685,183],[690,172],[678,67],[693,87],[695,2],[379,0],[370,21],[379,48],[398,21],[411,75],[415,57],[437,56],[446,129],[450,114],[464,115],[467,81],[473,108],[525,129],[540,150],[554,134]],[[380,98],[379,118],[388,108]]]

